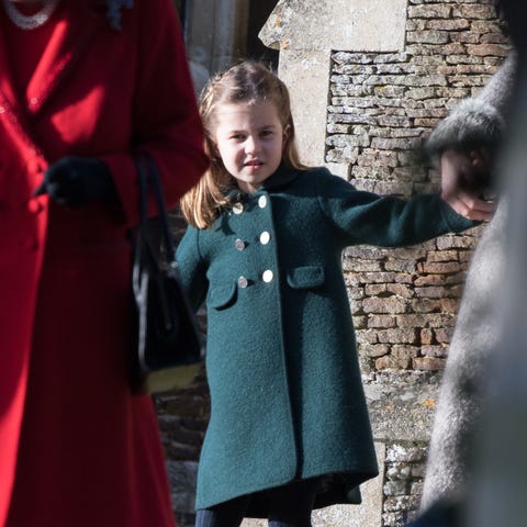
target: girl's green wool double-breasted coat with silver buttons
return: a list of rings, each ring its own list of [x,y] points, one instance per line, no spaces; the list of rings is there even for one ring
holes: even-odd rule
[[[378,474],[343,249],[472,225],[438,195],[403,201],[280,167],[211,228],[187,229],[177,258],[194,307],[206,303],[211,393],[197,508],[338,474],[326,506]]]

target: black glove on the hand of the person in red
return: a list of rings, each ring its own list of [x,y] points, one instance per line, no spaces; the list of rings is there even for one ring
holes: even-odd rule
[[[117,191],[104,161],[87,157],[63,157],[49,165],[35,195],[49,194],[60,205],[116,204]]]

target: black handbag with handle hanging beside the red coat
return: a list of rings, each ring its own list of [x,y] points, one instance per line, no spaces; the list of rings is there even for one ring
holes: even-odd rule
[[[135,229],[132,272],[136,319],[132,391],[144,394],[188,386],[200,371],[203,349],[181,289],[157,166],[142,154],[136,168],[141,222]],[[154,220],[147,217],[149,188],[158,212]]]

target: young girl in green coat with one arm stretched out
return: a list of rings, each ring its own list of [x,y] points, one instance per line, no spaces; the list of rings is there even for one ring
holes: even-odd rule
[[[211,419],[197,525],[310,526],[378,474],[341,271],[346,246],[413,245],[473,225],[438,194],[357,191],[306,169],[289,94],[243,63],[202,97],[211,168],[182,199],[178,249],[195,307],[208,309]]]

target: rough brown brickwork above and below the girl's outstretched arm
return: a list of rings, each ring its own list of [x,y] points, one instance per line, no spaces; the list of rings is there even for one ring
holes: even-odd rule
[[[359,189],[410,197],[438,188],[421,145],[460,98],[481,88],[508,47],[491,0],[410,0],[403,53],[335,52],[327,162]],[[363,372],[439,371],[481,227],[415,248],[350,248],[344,266]]]

